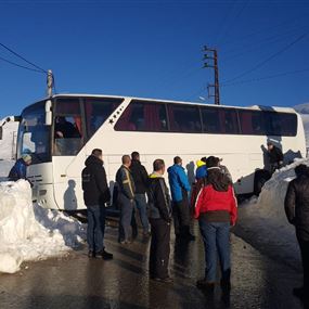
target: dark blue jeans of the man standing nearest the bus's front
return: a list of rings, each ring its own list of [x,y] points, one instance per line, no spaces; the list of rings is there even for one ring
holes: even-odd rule
[[[104,249],[105,207],[100,205],[87,206],[87,243],[89,250],[102,252]]]

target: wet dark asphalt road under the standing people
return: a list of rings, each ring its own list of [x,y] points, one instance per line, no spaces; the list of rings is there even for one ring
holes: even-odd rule
[[[198,235],[195,226],[195,235]],[[292,294],[301,274],[260,255],[232,235],[232,291],[222,300],[220,287],[213,297],[195,287],[204,273],[204,250],[195,242],[171,241],[172,284],[149,280],[149,240],[141,235],[130,245],[117,243],[117,230],[107,229],[106,249],[114,259],[88,259],[87,248],[66,257],[24,263],[15,274],[0,274],[0,308],[302,308]]]

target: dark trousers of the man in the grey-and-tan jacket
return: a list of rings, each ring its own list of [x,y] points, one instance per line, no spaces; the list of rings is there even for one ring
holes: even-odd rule
[[[119,242],[129,241],[131,237],[131,220],[134,207],[134,202],[130,201],[124,194],[119,194],[118,203],[120,206],[120,221],[119,221]]]

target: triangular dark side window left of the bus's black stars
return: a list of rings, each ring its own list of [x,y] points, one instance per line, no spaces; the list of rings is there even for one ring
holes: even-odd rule
[[[124,99],[86,99],[85,114],[88,139],[105,123],[112,113],[120,105]]]

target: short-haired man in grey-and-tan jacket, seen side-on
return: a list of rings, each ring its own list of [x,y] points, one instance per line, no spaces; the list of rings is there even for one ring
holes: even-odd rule
[[[118,204],[120,207],[119,222],[119,243],[128,244],[131,242],[132,235],[132,215],[134,208],[136,186],[133,177],[130,170],[131,158],[129,155],[124,155],[123,165],[116,173],[116,182],[118,185]]]

